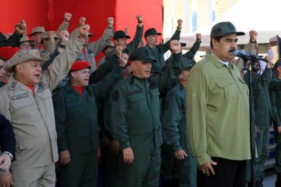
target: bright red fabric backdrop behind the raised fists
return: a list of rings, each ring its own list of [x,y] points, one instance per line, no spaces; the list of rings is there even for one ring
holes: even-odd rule
[[[80,17],[86,17],[94,36],[98,39],[107,26],[107,17],[114,17],[114,30],[129,27],[129,35],[134,37],[136,15],[143,15],[145,30],[154,27],[163,29],[163,0],[2,0],[0,11],[1,33],[13,33],[20,19],[25,19],[28,33],[35,26],[46,30],[57,30],[64,20],[64,12],[71,12],[69,30],[77,27]]]

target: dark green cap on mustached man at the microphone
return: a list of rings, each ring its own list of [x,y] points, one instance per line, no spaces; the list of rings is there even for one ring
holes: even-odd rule
[[[238,36],[245,35],[245,33],[243,32],[237,32],[235,26],[231,24],[229,21],[226,21],[226,22],[219,22],[218,24],[215,24],[215,26],[212,26],[210,38],[224,37],[231,34],[236,34]]]

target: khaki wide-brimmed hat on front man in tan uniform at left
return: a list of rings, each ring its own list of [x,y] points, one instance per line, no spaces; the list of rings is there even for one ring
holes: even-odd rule
[[[12,73],[12,67],[28,61],[43,62],[49,60],[48,55],[40,53],[37,49],[20,50],[6,63],[6,70]]]

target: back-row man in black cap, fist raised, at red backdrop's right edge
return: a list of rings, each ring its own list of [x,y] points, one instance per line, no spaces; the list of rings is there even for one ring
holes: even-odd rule
[[[171,37],[172,39],[179,40],[181,35],[181,25],[183,24],[182,19],[178,19],[178,26],[176,27],[176,32]],[[162,67],[165,65],[164,53],[169,50],[169,41],[165,44],[158,44],[158,35],[162,35],[158,33],[155,28],[149,28],[145,31],[145,41],[147,42],[146,47],[149,49],[152,57],[156,60],[156,62],[152,63],[151,73],[159,73],[161,72]]]

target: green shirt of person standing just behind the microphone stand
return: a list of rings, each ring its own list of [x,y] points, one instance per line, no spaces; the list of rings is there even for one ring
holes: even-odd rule
[[[253,74],[253,73],[252,73]],[[248,82],[249,73],[244,75]],[[252,75],[253,102],[255,109],[255,125],[257,127],[269,127],[271,125],[271,101],[269,98],[269,83],[272,79],[272,70],[265,69],[262,75]]]

